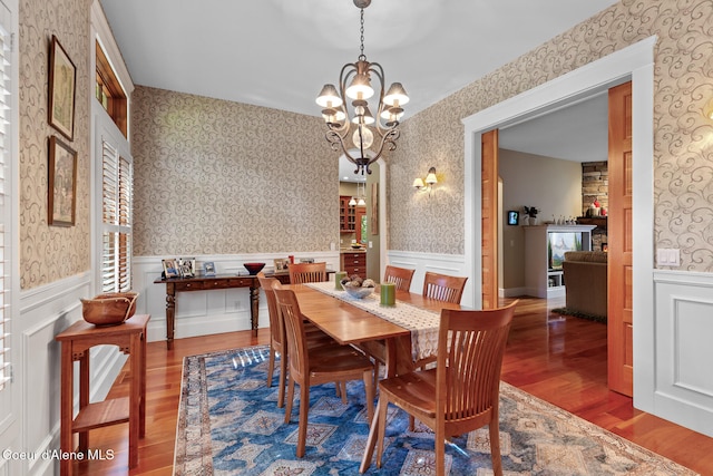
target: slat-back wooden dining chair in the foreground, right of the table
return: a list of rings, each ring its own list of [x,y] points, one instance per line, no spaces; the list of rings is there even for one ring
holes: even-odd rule
[[[500,369],[517,301],[505,308],[441,310],[437,366],[379,382],[377,466],[381,467],[389,404],[436,433],[436,474],[446,467],[445,440],[488,425],[492,472],[500,459]],[[363,468],[365,469],[365,468]]]

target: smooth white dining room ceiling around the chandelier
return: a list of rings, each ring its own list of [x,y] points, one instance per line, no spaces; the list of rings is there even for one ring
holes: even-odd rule
[[[322,85],[338,82],[360,52],[352,0],[100,2],[141,86],[319,116]],[[406,87],[408,120],[616,2],[373,0],[364,54],[383,66],[388,84]]]

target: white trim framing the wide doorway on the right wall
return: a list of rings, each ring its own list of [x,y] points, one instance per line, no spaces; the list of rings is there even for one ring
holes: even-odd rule
[[[637,210],[633,217],[634,309],[636,314],[653,312],[653,48],[655,38],[648,38],[586,65],[560,78],[541,85],[522,95],[508,99],[471,117],[463,119],[465,137],[465,215],[466,215],[466,266],[473,276],[472,288],[466,300],[479,307],[482,292],[482,268],[480,244],[484,231],[479,225],[482,208],[481,187],[481,136],[485,132],[505,128],[567,104],[582,100],[593,94],[626,81],[633,81],[634,124],[632,154],[634,177],[634,203]],[[653,324],[644,322],[634,329],[634,362],[655,359]],[[638,376],[638,378],[637,378]],[[646,411],[653,410],[654,381],[646,369],[634,367],[634,405]]]

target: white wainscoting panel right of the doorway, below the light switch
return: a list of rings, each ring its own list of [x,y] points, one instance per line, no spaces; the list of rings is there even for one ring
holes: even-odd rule
[[[654,272],[655,414],[713,437],[713,274]],[[636,322],[634,322],[636,326]]]

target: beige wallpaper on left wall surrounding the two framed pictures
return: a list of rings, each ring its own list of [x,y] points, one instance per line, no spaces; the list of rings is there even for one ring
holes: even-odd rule
[[[20,286],[36,288],[89,270],[89,10],[91,0],[19,2],[19,233]],[[75,138],[48,124],[48,68],[52,35],[77,67]],[[49,226],[48,139],[77,152],[76,224]]]

